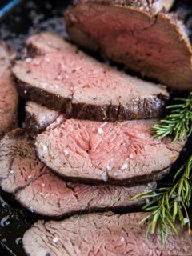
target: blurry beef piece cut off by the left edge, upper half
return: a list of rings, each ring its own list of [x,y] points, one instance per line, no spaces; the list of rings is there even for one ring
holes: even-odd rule
[[[0,40],[0,138],[18,124],[18,94],[10,66],[14,51]]]

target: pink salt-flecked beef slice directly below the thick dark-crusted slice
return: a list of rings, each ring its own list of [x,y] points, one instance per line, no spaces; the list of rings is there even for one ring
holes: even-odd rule
[[[157,120],[93,122],[65,119],[36,137],[38,158],[72,181],[133,186],[168,172],[184,141],[151,138]]]

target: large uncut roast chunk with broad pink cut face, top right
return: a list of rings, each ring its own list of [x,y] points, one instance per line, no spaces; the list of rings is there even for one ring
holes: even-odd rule
[[[128,2],[128,4],[126,4]],[[102,54],[106,54],[106,56],[110,59],[112,59],[114,62],[121,63],[123,65],[126,65],[130,70],[134,70],[136,74],[144,74],[147,78],[155,79],[155,81],[161,82],[162,84],[165,84],[167,86],[172,87],[174,90],[191,90],[192,88],[192,67],[191,67],[191,56],[192,56],[192,50],[190,46],[190,40],[188,37],[188,33],[186,31],[186,27],[184,26],[183,22],[178,18],[177,14],[174,13],[168,13],[166,14],[164,11],[149,11],[145,7],[139,8],[138,2],[142,1],[136,1],[136,4],[131,5],[131,1],[126,0],[106,0],[106,1],[95,1],[95,0],[78,0],[74,1],[73,6],[69,6],[68,9],[65,12],[65,21],[66,21],[66,28],[68,30],[68,34],[70,34],[70,38],[77,43],[78,45],[82,46],[83,48],[92,50],[92,51],[98,51]],[[133,1],[134,2],[134,1]],[[147,1],[149,2],[149,1]],[[154,1],[153,1],[154,2]],[[158,1],[155,1],[158,2]],[[144,3],[144,1],[143,1]],[[165,0],[166,6],[171,5],[172,3]],[[113,8],[114,10],[117,9],[117,12],[120,12],[122,10],[122,14],[127,12],[127,17],[129,17],[129,14],[133,13],[137,15],[138,20],[141,20],[141,26],[146,24],[145,28],[142,28],[141,31],[146,30],[146,36],[143,35],[143,40],[139,36],[137,36],[137,32],[139,35],[139,29],[137,28],[131,28],[131,20],[127,23],[127,26],[130,27],[130,38],[138,38],[138,42],[142,46],[142,42],[146,42],[146,37],[149,37],[149,34],[153,35],[154,30],[157,31],[158,35],[153,38],[151,37],[151,40],[148,43],[148,46],[146,46],[146,49],[142,50],[142,47],[140,52],[143,55],[142,61],[139,58],[139,54],[137,56],[137,50],[131,50],[132,46],[130,43],[130,50],[125,50],[124,52],[121,51],[121,46],[118,47],[119,50],[115,46],[117,45],[117,42],[114,42],[114,40],[104,40],[102,39],[104,36],[107,38],[107,32],[102,34],[102,30],[100,31],[100,27],[95,28],[92,27],[92,29],[88,29],[85,24],[83,24],[83,12],[81,14],[81,6],[82,10],[84,10],[85,14],[89,14],[88,8],[94,8],[94,6],[99,6],[99,10],[102,10],[102,7],[105,8],[108,7],[108,12],[110,13],[110,8]],[[87,8],[86,8],[87,7]],[[155,9],[155,8],[154,8]],[[90,9],[91,10],[91,9]],[[104,10],[103,10],[104,11]],[[101,12],[102,13],[102,12]],[[88,15],[87,15],[88,16]],[[95,14],[95,17],[97,17],[97,14]],[[123,15],[122,15],[123,17]],[[114,21],[115,21],[115,15],[114,15]],[[94,20],[94,15],[93,15]],[[148,22],[145,22],[147,20]],[[119,24],[118,24],[119,23]],[[110,21],[109,21],[110,24]],[[122,22],[123,24],[123,22]],[[125,23],[126,24],[126,23]],[[122,26],[118,32],[116,31],[114,35],[118,38],[118,36],[123,35],[123,31],[126,29],[126,25],[121,25],[120,21],[117,21],[117,27],[114,25],[114,31],[117,30],[118,26]],[[130,25],[130,26],[129,26]],[[109,26],[110,27],[110,26]],[[153,30],[154,28],[154,30]],[[95,35],[92,33],[92,31],[97,30],[100,31],[100,36]],[[107,30],[107,28],[106,28]],[[159,31],[158,31],[159,30]],[[162,33],[163,32],[163,33]],[[148,34],[147,34],[148,33]],[[162,37],[163,34],[163,37]],[[113,34],[112,34],[113,35]],[[172,35],[172,38],[171,38]],[[111,37],[111,34],[110,34]],[[163,56],[161,55],[161,47],[158,45],[159,39],[163,40],[165,38],[170,38],[170,42],[164,43],[164,52]],[[110,39],[110,38],[109,38]],[[127,39],[128,42],[129,39]],[[154,40],[154,42],[153,42]],[[132,40],[130,39],[130,42]],[[154,50],[150,50],[150,44],[153,42],[154,44]],[[157,43],[157,46],[156,46]],[[125,43],[126,44],[126,43]],[[145,46],[145,44],[143,44]],[[170,47],[169,51],[166,51],[167,46],[173,46],[173,49]],[[113,49],[113,50],[110,50]],[[122,46],[122,49],[123,46]],[[153,49],[153,47],[151,48]],[[159,51],[158,51],[159,50]],[[177,52],[178,50],[178,52]],[[140,53],[138,51],[138,53]],[[180,55],[180,58],[176,59],[176,61],[172,61],[173,54],[178,56]],[[123,57],[122,57],[123,54]],[[161,67],[161,62],[158,61],[158,58],[151,59],[151,56],[158,56],[158,58],[163,58],[162,63],[164,63],[165,67]],[[173,58],[174,59],[174,58]],[[156,62],[157,60],[157,62]],[[156,63],[155,63],[156,62]],[[181,63],[180,63],[181,62]],[[142,63],[144,65],[142,65]],[[154,65],[155,64],[155,65]],[[174,66],[174,69],[170,69],[169,65],[171,67]],[[181,68],[182,66],[182,68]]]

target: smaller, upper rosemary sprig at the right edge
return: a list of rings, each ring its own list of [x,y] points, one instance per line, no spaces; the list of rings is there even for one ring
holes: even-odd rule
[[[170,115],[162,119],[159,124],[154,125],[154,138],[163,138],[173,135],[174,141],[182,139],[192,132],[192,93],[187,98],[176,98],[180,104],[168,106]]]

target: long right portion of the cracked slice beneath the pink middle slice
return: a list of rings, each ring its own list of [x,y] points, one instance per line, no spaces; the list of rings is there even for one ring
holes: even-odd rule
[[[19,190],[15,196],[18,202],[35,213],[58,218],[95,210],[129,211],[144,203],[144,200],[131,201],[134,195],[145,190],[154,190],[155,187],[155,183],[134,187],[91,186],[65,182],[49,172]]]

